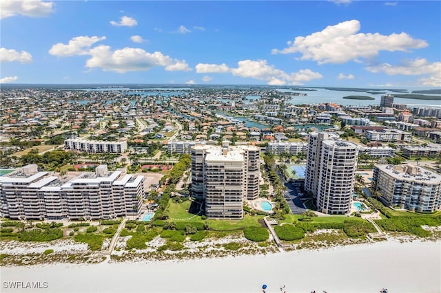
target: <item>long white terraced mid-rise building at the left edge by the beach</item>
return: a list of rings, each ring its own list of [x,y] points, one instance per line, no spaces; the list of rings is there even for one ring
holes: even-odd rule
[[[144,177],[109,172],[57,177],[28,165],[0,177],[0,214],[11,219],[112,219],[137,216]]]

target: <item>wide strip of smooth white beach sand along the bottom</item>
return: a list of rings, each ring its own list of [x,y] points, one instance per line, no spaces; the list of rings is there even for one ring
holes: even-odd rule
[[[441,292],[441,242],[380,243],[185,262],[1,268],[6,292]],[[48,282],[11,290],[4,282]]]

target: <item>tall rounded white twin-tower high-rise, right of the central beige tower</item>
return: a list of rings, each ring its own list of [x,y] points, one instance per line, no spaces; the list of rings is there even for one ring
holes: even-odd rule
[[[305,191],[316,198],[317,210],[326,214],[349,213],[355,186],[358,145],[334,133],[309,134]]]

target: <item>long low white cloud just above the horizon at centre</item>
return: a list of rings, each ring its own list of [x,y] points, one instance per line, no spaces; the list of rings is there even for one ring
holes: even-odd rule
[[[274,66],[267,65],[266,60],[243,60],[238,62],[237,68],[229,68],[225,63],[221,65],[199,63],[196,73],[227,73],[243,78],[266,80],[269,85],[300,85],[301,82],[322,78],[318,72],[302,69],[296,73],[287,74]]]

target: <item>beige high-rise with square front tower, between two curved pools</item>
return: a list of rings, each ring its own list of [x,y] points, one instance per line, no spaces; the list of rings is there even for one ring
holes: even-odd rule
[[[205,200],[209,219],[242,219],[244,199],[258,197],[260,148],[192,146],[192,196]]]

